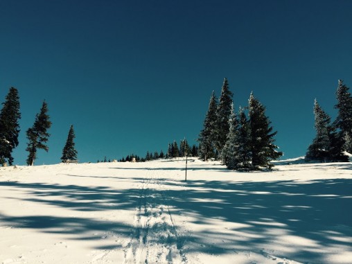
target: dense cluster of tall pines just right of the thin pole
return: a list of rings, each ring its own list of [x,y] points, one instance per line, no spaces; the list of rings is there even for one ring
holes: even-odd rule
[[[283,154],[274,145],[276,132],[265,115],[265,107],[252,92],[248,106],[239,107],[236,112],[232,96],[226,78],[220,98],[216,98],[214,91],[211,94],[198,139],[200,158],[220,159],[227,168],[236,170],[272,168],[270,161]]]

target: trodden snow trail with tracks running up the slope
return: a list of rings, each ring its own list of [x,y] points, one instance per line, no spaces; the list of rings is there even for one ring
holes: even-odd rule
[[[150,168],[139,186],[134,232],[124,249],[124,264],[187,263],[158,176]]]

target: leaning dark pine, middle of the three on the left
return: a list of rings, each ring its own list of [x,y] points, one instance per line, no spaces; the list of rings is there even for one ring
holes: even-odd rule
[[[33,127],[30,127],[27,131],[27,148],[28,159],[27,164],[33,166],[35,159],[37,158],[37,149],[49,151],[49,147],[46,146],[46,142],[49,140],[50,134],[47,132],[51,127],[51,121],[49,121],[48,105],[43,102],[42,108],[40,109],[39,114],[35,116],[35,122]]]

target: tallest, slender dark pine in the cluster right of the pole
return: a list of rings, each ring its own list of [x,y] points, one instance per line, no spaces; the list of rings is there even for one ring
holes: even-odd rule
[[[231,114],[232,92],[229,90],[229,83],[227,78],[224,79],[224,83],[221,89],[221,95],[219,98],[219,105],[216,109],[217,116],[217,127],[216,127],[216,140],[215,148],[221,153],[227,141],[227,134],[229,133],[229,118]]]

